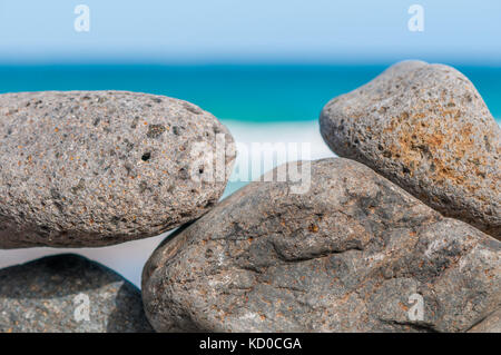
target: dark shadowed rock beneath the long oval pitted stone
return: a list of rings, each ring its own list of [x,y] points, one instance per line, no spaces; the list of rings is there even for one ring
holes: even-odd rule
[[[0,333],[153,332],[140,290],[78,255],[0,269]]]

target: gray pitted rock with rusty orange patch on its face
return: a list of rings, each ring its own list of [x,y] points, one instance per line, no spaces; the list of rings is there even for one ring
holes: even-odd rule
[[[331,100],[320,125],[338,156],[367,165],[445,216],[501,238],[501,131],[458,70],[397,63]]]

